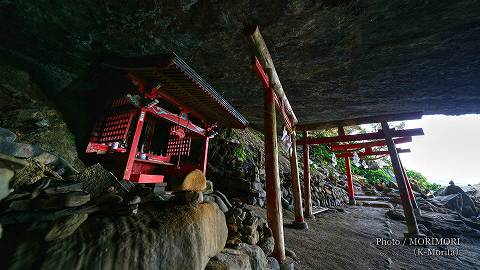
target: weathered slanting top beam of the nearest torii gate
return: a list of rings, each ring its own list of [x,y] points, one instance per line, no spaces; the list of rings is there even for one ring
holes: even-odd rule
[[[251,26],[247,27],[245,33],[248,37],[250,42],[250,46],[258,58],[260,63],[262,64],[263,68],[265,69],[265,73],[268,75],[268,79],[270,82],[270,87],[275,92],[275,95],[278,97],[280,103],[282,104],[283,109],[285,110],[290,122],[294,125],[298,123],[297,117],[293,112],[292,107],[290,106],[290,102],[283,91],[282,84],[280,83],[280,79],[278,78],[277,71],[275,70],[275,66],[273,65],[272,56],[268,51],[267,45],[265,44],[265,40],[260,33],[260,29],[258,26]]]

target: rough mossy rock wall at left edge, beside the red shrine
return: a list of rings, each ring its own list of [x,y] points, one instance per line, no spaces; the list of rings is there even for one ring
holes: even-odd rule
[[[38,78],[22,68],[3,65],[2,60],[0,152],[21,158],[35,157],[45,164],[68,163],[76,169],[84,168],[75,151],[73,135],[36,83]]]

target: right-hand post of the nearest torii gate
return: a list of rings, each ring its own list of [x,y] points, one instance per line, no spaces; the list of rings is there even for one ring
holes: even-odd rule
[[[293,210],[295,214],[293,225],[298,229],[308,229],[308,225],[303,218],[302,191],[300,190],[300,177],[298,176],[297,139],[295,131],[290,134],[290,138],[292,141],[290,172],[292,175]]]

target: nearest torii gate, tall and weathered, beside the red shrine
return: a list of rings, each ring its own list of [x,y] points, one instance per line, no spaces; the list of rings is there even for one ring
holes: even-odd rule
[[[290,169],[292,175],[292,192],[296,228],[308,228],[303,218],[302,195],[298,175],[298,161],[296,152],[295,125],[297,118],[283,91],[267,45],[263,40],[258,26],[246,29],[246,35],[252,47],[252,69],[263,84],[264,92],[264,135],[265,135],[265,186],[267,192],[267,220],[272,229],[275,241],[273,255],[282,265],[282,269],[293,268],[293,261],[285,256],[283,236],[283,216],[280,192],[280,176],[278,170],[278,144],[276,110],[280,111],[292,142],[290,155]]]

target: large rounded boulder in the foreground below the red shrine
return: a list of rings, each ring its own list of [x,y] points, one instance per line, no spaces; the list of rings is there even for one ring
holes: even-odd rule
[[[133,217],[89,216],[57,241],[44,240],[45,225],[31,226],[28,233],[23,226],[4,227],[0,257],[5,269],[201,270],[227,240],[225,216],[215,203],[148,207]],[[56,239],[63,237],[55,233]]]

